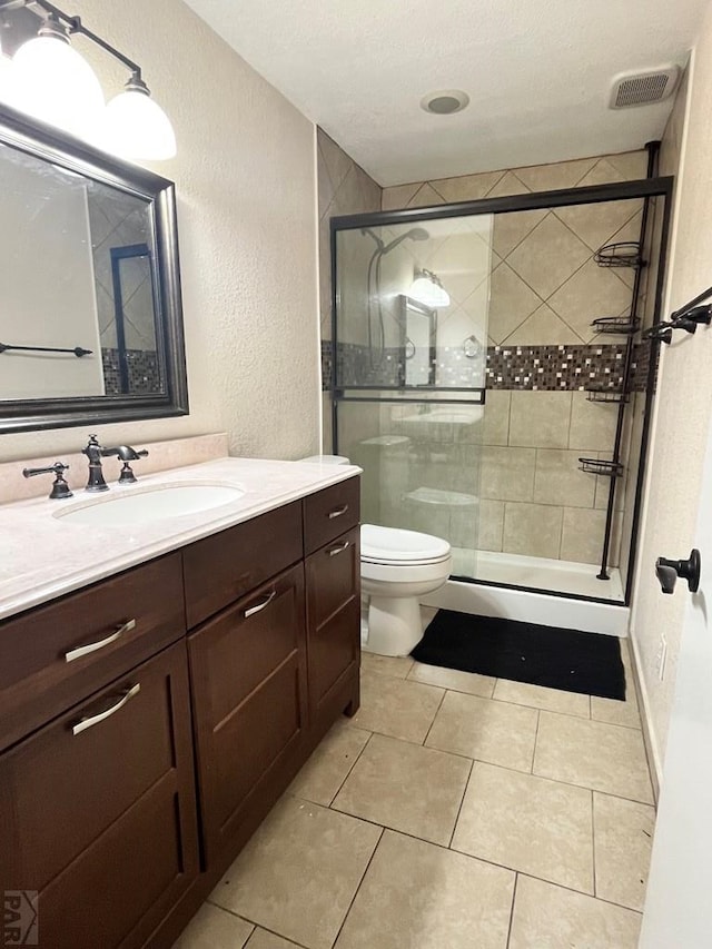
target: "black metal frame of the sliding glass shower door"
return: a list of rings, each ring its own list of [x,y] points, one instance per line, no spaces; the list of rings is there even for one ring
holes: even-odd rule
[[[328,388],[332,399],[332,433],[334,451],[338,453],[338,404],[340,402],[423,402],[417,395],[415,398],[407,394],[417,394],[417,387],[405,386],[343,386],[338,385],[336,350],[338,343],[337,327],[337,266],[336,266],[336,240],[339,231],[357,230],[366,227],[379,227],[387,225],[416,224],[428,220],[439,220],[449,217],[468,217],[473,215],[511,214],[514,211],[548,210],[552,208],[571,207],[574,205],[602,204],[604,201],[634,200],[646,198],[663,198],[663,218],[660,237],[660,251],[657,260],[657,273],[655,280],[655,306],[653,323],[661,318],[663,291],[668,269],[668,245],[670,240],[670,228],[673,212],[673,191],[675,179],[673,176],[641,178],[633,181],[620,181],[610,185],[593,185],[584,188],[564,188],[554,191],[536,191],[524,195],[511,195],[501,198],[481,198],[474,201],[457,201],[454,204],[435,205],[424,208],[403,208],[400,210],[372,211],[368,214],[340,215],[329,219],[330,265],[332,265],[332,346],[334,353],[334,368]],[[642,247],[642,253],[645,248]],[[643,265],[645,266],[645,264]],[[522,586],[520,584],[497,583],[494,581],[478,580],[477,577],[458,577],[462,582],[474,583],[482,586],[497,586],[510,590],[522,590],[530,593],[546,593],[551,596],[560,596],[565,600],[582,600],[591,603],[605,603],[614,606],[630,606],[633,589],[633,577],[637,562],[637,541],[640,533],[640,518],[643,504],[643,488],[645,484],[645,471],[647,467],[647,454],[650,444],[650,428],[652,422],[652,408],[655,395],[655,382],[657,377],[657,360],[661,342],[650,340],[650,362],[645,380],[645,405],[643,409],[643,427],[641,433],[641,453],[637,472],[635,476],[635,500],[633,503],[633,518],[631,526],[631,543],[627,572],[625,576],[625,589],[623,602],[610,600],[605,596],[585,596],[576,593],[562,593],[555,590],[542,590],[541,587]],[[485,404],[485,388],[447,388],[447,387],[423,387],[427,392],[452,393],[457,392],[476,394],[475,398],[443,398],[438,404]],[[406,395],[375,397],[374,396],[348,396],[346,392],[394,392],[406,393]]]

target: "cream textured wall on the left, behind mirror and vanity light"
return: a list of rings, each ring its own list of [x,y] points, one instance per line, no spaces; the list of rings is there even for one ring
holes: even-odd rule
[[[155,170],[178,194],[191,414],[99,426],[101,438],[140,444],[227,429],[233,454],[315,451],[313,125],[180,0],[77,0],[71,12],[141,63],[178,139],[177,158]],[[86,42],[81,51],[105,92],[119,91],[125,71]],[[0,459],[61,454],[86,436],[85,426],[3,435]]]

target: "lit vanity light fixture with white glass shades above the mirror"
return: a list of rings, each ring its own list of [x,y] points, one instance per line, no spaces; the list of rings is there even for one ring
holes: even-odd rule
[[[0,11],[3,7],[39,8],[44,14],[38,36],[12,59],[3,95],[9,105],[121,158],[176,155],[172,126],[150,98],[140,66],[48,0],[0,0]],[[123,91],[106,106],[93,70],[71,46],[73,36],[86,37],[130,71]]]

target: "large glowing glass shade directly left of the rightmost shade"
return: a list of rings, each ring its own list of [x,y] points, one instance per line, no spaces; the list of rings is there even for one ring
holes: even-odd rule
[[[12,58],[10,105],[72,135],[89,138],[100,121],[103,93],[89,63],[68,42],[40,36]]]

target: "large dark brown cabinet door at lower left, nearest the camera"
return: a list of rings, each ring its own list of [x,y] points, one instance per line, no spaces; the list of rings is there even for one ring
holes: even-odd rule
[[[198,872],[185,643],[0,757],[0,889],[40,949],[144,946]]]

